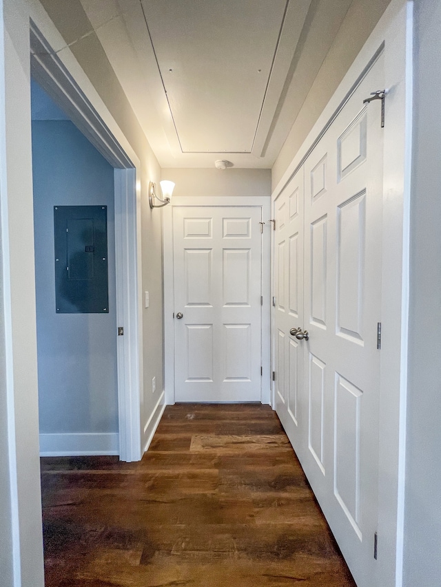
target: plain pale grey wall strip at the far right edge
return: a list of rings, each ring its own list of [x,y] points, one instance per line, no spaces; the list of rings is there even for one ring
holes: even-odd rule
[[[416,2],[404,586],[441,581],[441,3]]]

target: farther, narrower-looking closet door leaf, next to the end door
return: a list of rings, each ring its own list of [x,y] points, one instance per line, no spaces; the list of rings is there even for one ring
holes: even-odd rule
[[[289,330],[303,317],[303,168],[274,202],[275,407],[296,451],[300,450],[303,347]]]

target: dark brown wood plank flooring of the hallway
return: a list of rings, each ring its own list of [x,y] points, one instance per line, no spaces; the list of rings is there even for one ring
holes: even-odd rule
[[[41,481],[46,587],[355,587],[269,406],[168,406],[141,462]]]

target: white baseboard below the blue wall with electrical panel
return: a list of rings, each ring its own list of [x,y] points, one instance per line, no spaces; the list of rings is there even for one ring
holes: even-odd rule
[[[40,456],[119,455],[118,432],[40,434]]]

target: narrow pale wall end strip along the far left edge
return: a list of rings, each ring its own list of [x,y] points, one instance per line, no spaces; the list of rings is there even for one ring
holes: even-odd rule
[[[4,587],[43,587],[43,540],[39,478],[37,344],[30,132],[29,13],[23,0],[0,2],[0,206],[8,427],[1,425],[2,544],[13,562],[1,566]],[[3,372],[4,373],[4,372]],[[2,381],[2,383],[5,383]],[[4,399],[3,399],[4,401]],[[4,442],[5,435],[8,435]],[[3,456],[4,458],[4,456]],[[2,463],[6,465],[6,463]],[[4,495],[10,482],[10,493]],[[3,553],[2,553],[3,556]]]

